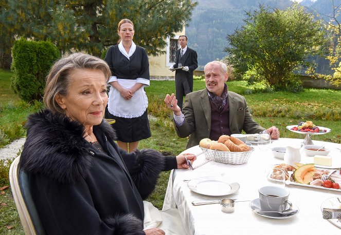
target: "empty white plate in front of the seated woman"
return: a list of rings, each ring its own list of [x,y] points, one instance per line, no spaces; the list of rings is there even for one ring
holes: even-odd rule
[[[229,183],[223,177],[202,177],[192,179],[187,186],[193,192],[207,196],[224,196],[237,192],[239,184],[237,182]]]

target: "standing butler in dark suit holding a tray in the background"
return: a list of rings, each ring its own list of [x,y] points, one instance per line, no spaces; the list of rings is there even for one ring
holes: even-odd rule
[[[198,55],[194,50],[187,47],[187,36],[181,35],[178,43],[181,48],[176,51],[175,64],[169,69],[175,70],[177,105],[182,109],[183,97],[193,91],[193,71],[198,68]]]

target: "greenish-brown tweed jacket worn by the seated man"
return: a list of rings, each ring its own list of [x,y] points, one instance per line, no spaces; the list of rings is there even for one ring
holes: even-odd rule
[[[257,124],[247,107],[244,96],[228,91],[229,124],[232,134],[259,133],[265,130]],[[182,126],[175,125],[176,133],[181,138],[189,136],[187,148],[199,145],[204,138],[209,138],[211,131],[211,105],[207,90],[194,91],[186,95],[183,107],[185,122]]]

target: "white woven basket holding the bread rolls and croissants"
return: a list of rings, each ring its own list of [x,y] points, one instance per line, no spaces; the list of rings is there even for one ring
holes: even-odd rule
[[[205,153],[205,158],[207,160],[232,165],[240,165],[247,163],[252,152],[255,150],[253,147],[250,147],[250,150],[246,152],[226,152],[213,149],[206,149],[201,146],[200,148]]]

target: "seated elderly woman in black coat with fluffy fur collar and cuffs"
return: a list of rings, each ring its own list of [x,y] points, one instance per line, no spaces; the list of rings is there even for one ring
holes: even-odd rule
[[[46,109],[30,115],[20,166],[47,234],[165,234],[143,231],[143,199],[160,171],[188,168],[193,154],[127,153],[103,120],[107,64],[82,53],[47,76]]]

